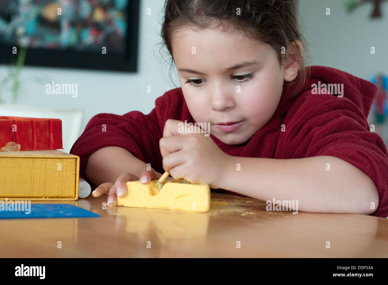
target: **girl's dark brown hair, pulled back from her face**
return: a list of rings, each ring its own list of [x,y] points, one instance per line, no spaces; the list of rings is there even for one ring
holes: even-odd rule
[[[295,0],[166,0],[165,15],[161,27],[163,45],[168,49],[173,66],[172,41],[174,31],[183,26],[209,28],[217,23],[224,30],[230,25],[262,43],[269,44],[277,52],[279,64],[284,65],[291,56],[300,63],[297,77],[286,85],[298,83],[295,92],[305,84],[305,58],[307,43],[296,19]],[[240,9],[240,15],[237,14]],[[301,56],[292,42],[299,40],[303,47]],[[282,49],[286,54],[282,54]],[[174,84],[175,85],[175,84]]]

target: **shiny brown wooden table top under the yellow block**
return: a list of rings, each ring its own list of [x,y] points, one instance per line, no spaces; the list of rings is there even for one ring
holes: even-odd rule
[[[0,220],[1,257],[388,257],[388,219],[268,212],[263,201],[211,194],[208,213],[68,203],[101,215]],[[43,203],[34,201],[31,203]],[[62,248],[57,248],[61,241]],[[330,248],[326,248],[326,242]],[[240,244],[241,248],[237,248]],[[147,248],[151,245],[151,248]]]

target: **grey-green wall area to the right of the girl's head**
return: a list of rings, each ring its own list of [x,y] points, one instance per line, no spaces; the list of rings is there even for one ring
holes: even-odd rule
[[[338,68],[366,80],[376,72],[388,73],[388,2],[381,5],[383,17],[373,20],[371,3],[348,14],[344,0],[297,2],[312,65]],[[372,46],[376,54],[371,54]]]

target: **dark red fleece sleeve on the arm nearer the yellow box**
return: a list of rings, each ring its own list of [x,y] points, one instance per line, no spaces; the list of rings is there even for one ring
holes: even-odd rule
[[[151,163],[156,171],[163,171],[159,140],[161,126],[154,108],[148,115],[139,111],[124,115],[101,113],[88,122],[82,135],[70,150],[80,157],[80,176],[85,178],[89,156],[109,146],[122,147],[145,163]]]

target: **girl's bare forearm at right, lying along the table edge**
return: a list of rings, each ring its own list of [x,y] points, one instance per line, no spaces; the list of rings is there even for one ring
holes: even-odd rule
[[[372,179],[352,164],[332,156],[229,156],[223,173],[218,188],[264,201],[295,200],[298,210],[304,212],[370,214],[375,211],[371,210],[371,202],[374,209],[379,203]]]

